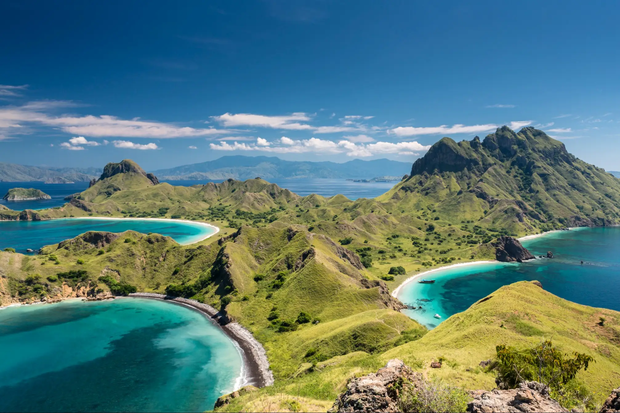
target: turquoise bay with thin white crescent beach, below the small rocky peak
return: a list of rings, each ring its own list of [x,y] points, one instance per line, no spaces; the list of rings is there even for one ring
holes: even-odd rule
[[[11,247],[25,253],[44,245],[74,238],[87,231],[159,233],[180,244],[191,244],[215,232],[215,229],[193,222],[154,219],[63,218],[45,221],[0,221],[0,249]]]

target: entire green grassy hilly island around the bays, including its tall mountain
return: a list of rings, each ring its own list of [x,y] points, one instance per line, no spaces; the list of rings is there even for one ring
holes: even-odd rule
[[[215,411],[395,411],[404,393],[390,389],[405,382],[428,386],[430,376],[471,389],[459,393],[474,404],[470,411],[489,411],[489,397],[509,399],[504,404],[510,406],[554,403],[554,410],[545,404],[538,411],[593,411],[620,385],[620,312],[567,301],[545,290],[536,274],[490,293],[476,292],[471,274],[476,301],[460,303],[461,312],[433,329],[403,313],[410,308],[394,297],[405,280],[448,264],[503,261],[532,268],[528,263],[565,259],[561,250],[533,259],[516,237],[620,224],[620,180],[538,129],[516,133],[503,126],[461,142],[444,137],[415,161],[410,175],[374,199],[299,196],[260,178],[172,186],[123,160],[108,163],[99,180],[62,207],[2,209],[0,217],[185,219],[223,228],[221,236],[191,245],[153,233],[97,231],[33,256],[0,251],[1,305],[138,292],[193,308],[204,304],[217,325],[239,326],[248,337],[239,336],[242,342],[255,340],[256,354],[263,349],[269,365],[252,369],[263,379],[257,386],[221,396]],[[584,277],[588,265],[580,270]],[[462,297],[456,290],[449,299]],[[543,340],[567,354],[562,357],[578,355],[590,365],[577,365],[562,394],[511,383],[488,392],[496,379],[502,383],[501,349],[528,351]],[[257,359],[241,348],[244,357]],[[382,387],[368,389],[359,378],[373,373],[370,383],[381,368],[385,397],[378,399],[365,391]],[[273,385],[265,380],[271,374]]]

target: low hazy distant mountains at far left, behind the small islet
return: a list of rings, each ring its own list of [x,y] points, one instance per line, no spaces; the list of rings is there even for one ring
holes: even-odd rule
[[[99,178],[101,168],[30,167],[0,162],[0,181],[50,181],[50,183],[81,182]]]

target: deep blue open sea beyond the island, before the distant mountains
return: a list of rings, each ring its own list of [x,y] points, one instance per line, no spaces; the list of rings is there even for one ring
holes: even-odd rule
[[[221,181],[162,181],[175,186],[205,185],[207,182]],[[386,193],[396,182],[352,182],[342,179],[273,179],[281,188],[288,188],[294,193],[306,196],[309,194],[319,194],[322,196],[334,196],[343,194],[348,199],[375,198]],[[51,199],[37,199],[34,201],[4,201],[2,197],[11,188],[35,188],[51,196]],[[43,182],[0,182],[0,204],[15,211],[24,209],[45,209],[63,206],[67,201],[64,197],[84,191],[88,188],[87,182],[76,183],[43,183]]]

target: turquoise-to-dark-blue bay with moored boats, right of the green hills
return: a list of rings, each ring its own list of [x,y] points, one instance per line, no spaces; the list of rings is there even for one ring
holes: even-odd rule
[[[523,241],[535,256],[552,251],[553,259],[526,263],[472,264],[435,271],[402,286],[398,298],[421,310],[405,314],[435,328],[441,320],[466,310],[502,285],[539,280],[545,290],[572,302],[620,311],[620,227],[578,228]],[[584,261],[583,264],[580,261]],[[435,313],[441,320],[433,317]]]

